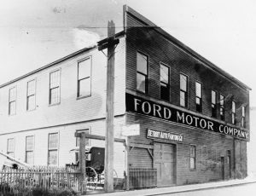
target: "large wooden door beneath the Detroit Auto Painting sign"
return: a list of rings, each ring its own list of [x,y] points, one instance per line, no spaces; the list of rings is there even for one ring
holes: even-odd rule
[[[175,146],[154,143],[154,167],[157,169],[157,186],[166,187],[175,183]]]

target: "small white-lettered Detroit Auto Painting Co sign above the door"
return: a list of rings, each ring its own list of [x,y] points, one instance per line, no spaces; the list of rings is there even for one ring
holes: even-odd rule
[[[148,129],[147,138],[159,139],[164,141],[179,141],[183,142],[183,135],[173,134],[167,131],[150,130]]]

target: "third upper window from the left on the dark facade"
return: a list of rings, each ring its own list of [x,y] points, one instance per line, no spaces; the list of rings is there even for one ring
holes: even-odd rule
[[[179,104],[182,107],[188,107],[188,77],[180,74],[179,75]]]

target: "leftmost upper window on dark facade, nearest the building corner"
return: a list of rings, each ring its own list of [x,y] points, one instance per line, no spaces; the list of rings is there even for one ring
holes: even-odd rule
[[[148,93],[148,56],[137,52],[137,90]]]

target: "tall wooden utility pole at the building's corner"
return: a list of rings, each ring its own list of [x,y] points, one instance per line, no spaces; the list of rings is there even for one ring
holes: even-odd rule
[[[108,37],[113,37],[113,20],[108,21]],[[113,192],[113,101],[114,101],[114,45],[108,44],[106,143],[105,143],[105,192]]]

